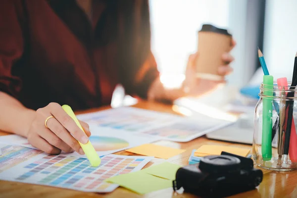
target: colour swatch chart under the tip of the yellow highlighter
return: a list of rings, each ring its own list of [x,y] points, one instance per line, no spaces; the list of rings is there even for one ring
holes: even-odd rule
[[[110,154],[101,158],[99,167],[92,167],[86,158],[41,153],[25,162],[12,163],[11,168],[0,173],[0,179],[107,193],[112,192],[118,185],[105,183],[105,179],[141,170],[152,158]]]

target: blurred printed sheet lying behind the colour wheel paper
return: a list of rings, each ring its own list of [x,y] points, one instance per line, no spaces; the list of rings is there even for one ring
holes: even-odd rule
[[[77,117],[87,122],[91,129],[92,127],[111,128],[121,132],[147,134],[174,142],[189,142],[234,123],[202,114],[196,115],[195,118],[187,118],[135,107],[119,107],[81,114]]]

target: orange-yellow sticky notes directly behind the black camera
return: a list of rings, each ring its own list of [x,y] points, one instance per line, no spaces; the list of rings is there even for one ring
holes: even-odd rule
[[[203,145],[195,151],[195,156],[202,157],[206,155],[220,155],[222,151],[245,157],[247,156],[250,150],[248,148],[237,148],[219,145]]]

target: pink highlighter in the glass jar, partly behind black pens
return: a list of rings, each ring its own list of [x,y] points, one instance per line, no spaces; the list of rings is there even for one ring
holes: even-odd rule
[[[287,78],[279,78],[277,79],[277,85],[279,89],[285,88],[288,90],[288,81]],[[286,110],[284,110],[286,111]],[[285,122],[284,122],[285,123]],[[284,140],[283,140],[284,142]],[[282,153],[284,154],[284,153]],[[290,136],[290,146],[289,146],[289,156],[292,162],[297,162],[297,135],[296,135],[296,128],[294,118],[292,118],[292,129],[291,129],[291,136]]]

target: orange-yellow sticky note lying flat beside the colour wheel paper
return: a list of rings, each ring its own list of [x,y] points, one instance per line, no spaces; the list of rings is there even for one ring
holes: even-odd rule
[[[175,155],[181,154],[182,152],[185,152],[184,149],[178,149],[178,148],[170,148],[170,147],[164,147],[154,144],[144,144],[138,147],[129,148],[127,149],[128,152],[133,152],[136,154],[141,155],[147,155],[147,156],[154,156],[158,158],[168,159],[170,157],[173,157]]]

